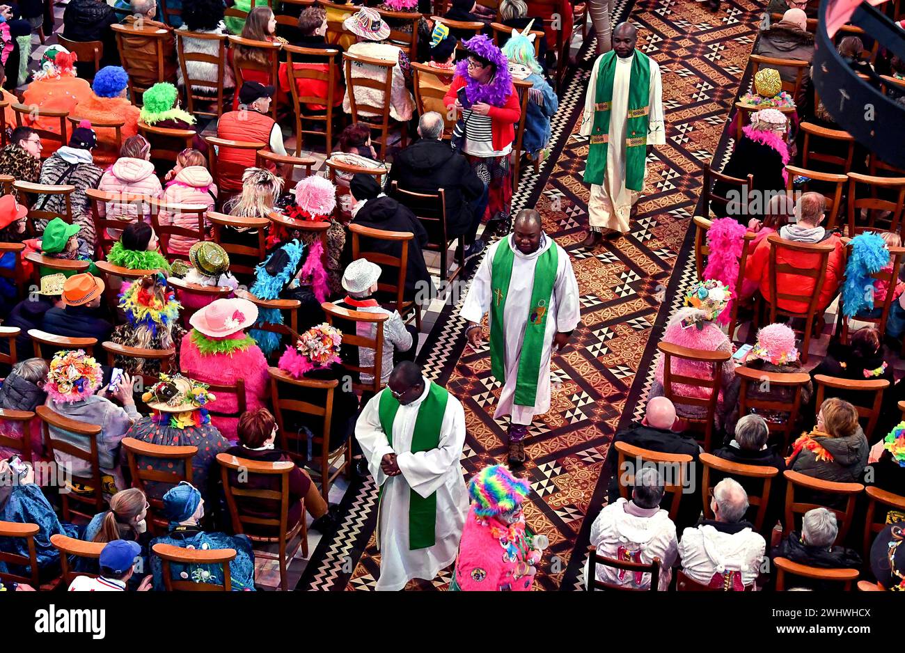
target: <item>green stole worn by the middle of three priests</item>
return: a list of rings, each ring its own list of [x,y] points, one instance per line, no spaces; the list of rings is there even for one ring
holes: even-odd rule
[[[506,338],[503,334],[503,311],[509,296],[512,261],[515,252],[510,246],[511,236],[501,241],[493,255],[491,269],[491,372],[500,383],[506,383]],[[521,341],[519,373],[516,376],[515,399],[517,406],[533,406],[538,394],[540,356],[544,352],[544,334],[547,329],[550,297],[557,280],[557,243],[550,242],[547,251],[538,256],[534,266],[534,283],[528,305],[528,322]]]

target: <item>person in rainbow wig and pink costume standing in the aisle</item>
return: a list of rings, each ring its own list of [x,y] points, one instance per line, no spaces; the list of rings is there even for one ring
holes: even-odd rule
[[[528,490],[528,481],[502,465],[483,468],[472,478],[472,506],[450,590],[530,591],[541,552],[525,533],[521,502]]]

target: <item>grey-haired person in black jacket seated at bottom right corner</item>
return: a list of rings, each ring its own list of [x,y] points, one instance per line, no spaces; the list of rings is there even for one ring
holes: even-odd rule
[[[808,510],[801,520],[801,534],[792,531],[770,552],[771,558],[786,558],[793,563],[824,569],[859,569],[861,556],[843,545],[834,546],[839,526],[832,510],[824,507]],[[795,576],[795,587],[814,591],[841,590],[839,582],[820,582]],[[789,589],[786,585],[786,590]]]

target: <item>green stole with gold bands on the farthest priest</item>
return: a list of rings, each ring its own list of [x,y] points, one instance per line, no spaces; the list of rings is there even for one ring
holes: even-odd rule
[[[607,52],[597,69],[594,103],[594,128],[585,166],[585,183],[602,185],[606,171],[606,150],[610,140],[610,109],[613,106],[616,53]],[[647,123],[651,108],[651,60],[634,51],[628,86],[628,115],[625,120],[625,187],[640,191],[644,187],[644,162],[647,158]]]

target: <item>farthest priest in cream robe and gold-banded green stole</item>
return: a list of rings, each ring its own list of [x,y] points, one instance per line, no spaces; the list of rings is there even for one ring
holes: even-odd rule
[[[613,51],[597,57],[587,85],[580,134],[588,139],[590,229],[582,243],[588,249],[629,231],[647,155],[666,143],[660,66],[635,48],[636,41],[632,24],[617,25]],[[604,235],[604,229],[610,231]]]

